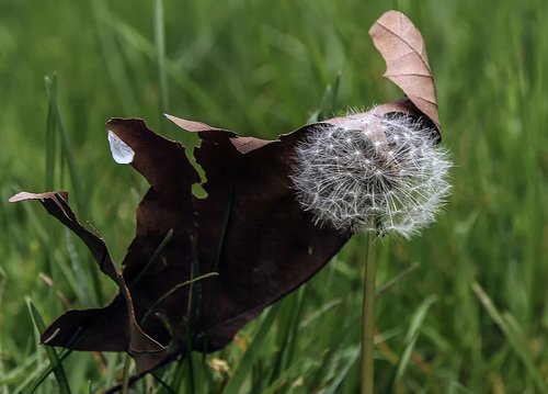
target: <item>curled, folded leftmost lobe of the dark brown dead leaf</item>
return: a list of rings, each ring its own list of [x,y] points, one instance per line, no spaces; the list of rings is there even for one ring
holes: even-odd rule
[[[119,295],[105,308],[69,311],[57,318],[42,334],[42,340],[46,345],[76,350],[128,351],[135,358],[138,371],[156,368],[165,357],[165,348],[140,329],[129,290],[104,240],[78,222],[68,204],[68,193],[21,192],[10,202],[26,200],[38,200],[52,216],[71,229],[89,248],[101,271],[119,288]]]

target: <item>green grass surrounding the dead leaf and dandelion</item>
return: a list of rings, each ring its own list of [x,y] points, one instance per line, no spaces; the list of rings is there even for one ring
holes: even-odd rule
[[[322,101],[395,99],[367,35],[391,3],[426,40],[456,168],[436,224],[376,244],[379,288],[420,264],[377,301],[378,391],[546,393],[548,2],[0,0],[0,394],[96,392],[121,382],[125,361],[37,345],[36,316],[48,324],[115,289],[78,239],[37,204],[9,204],[12,193],[69,190],[121,261],[147,185],[112,160],[109,117],[144,117],[192,144],[162,112],[274,137]],[[333,83],[335,100],[322,100]],[[232,345],[138,391],[355,393],[363,254],[355,237]],[[210,367],[219,359],[230,372]]]

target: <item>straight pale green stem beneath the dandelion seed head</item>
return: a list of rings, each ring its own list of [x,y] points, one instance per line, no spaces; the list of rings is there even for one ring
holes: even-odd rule
[[[362,302],[362,394],[374,392],[375,256],[370,232],[365,234],[365,278]]]

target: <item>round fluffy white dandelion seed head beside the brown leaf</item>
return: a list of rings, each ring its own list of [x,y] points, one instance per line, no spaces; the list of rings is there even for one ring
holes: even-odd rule
[[[296,148],[294,189],[316,224],[409,238],[445,203],[452,162],[420,120],[375,112],[318,125]]]

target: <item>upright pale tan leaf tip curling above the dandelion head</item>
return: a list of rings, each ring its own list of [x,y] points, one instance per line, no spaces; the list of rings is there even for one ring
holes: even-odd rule
[[[386,61],[384,76],[432,121],[441,139],[436,89],[421,32],[403,13],[388,11],[375,22],[369,35]]]

